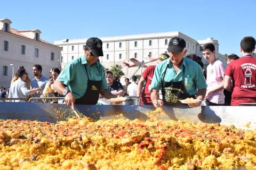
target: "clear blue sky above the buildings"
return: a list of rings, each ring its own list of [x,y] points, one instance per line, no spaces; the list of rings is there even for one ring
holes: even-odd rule
[[[18,30],[39,29],[54,40],[180,31],[219,40],[219,52],[240,55],[245,36],[256,38],[256,0],[244,1],[2,1],[0,18]],[[5,6],[5,7],[3,7]]]

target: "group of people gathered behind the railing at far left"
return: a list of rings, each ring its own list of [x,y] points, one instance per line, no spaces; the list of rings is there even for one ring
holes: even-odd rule
[[[58,68],[52,68],[50,70],[49,78],[42,75],[42,66],[35,64],[32,72],[35,76],[34,79],[30,80],[28,73],[24,66],[19,66],[17,72],[14,74],[11,80],[11,86],[8,91],[1,87],[1,98],[14,98],[17,102],[28,101],[31,97],[55,97],[60,96],[53,87],[53,82],[57,79],[60,74]],[[3,90],[2,90],[3,89]],[[7,100],[8,101],[8,100]],[[38,99],[37,102],[43,103],[43,100]]]

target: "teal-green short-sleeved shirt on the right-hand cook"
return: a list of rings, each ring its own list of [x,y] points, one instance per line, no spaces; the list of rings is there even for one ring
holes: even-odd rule
[[[165,77],[164,72],[166,72]],[[162,87],[163,80],[166,82],[184,80],[185,88],[189,95],[196,95],[197,89],[205,89],[207,87],[201,66],[186,57],[183,58],[177,73],[170,58],[158,64],[151,82],[151,88],[159,90]]]

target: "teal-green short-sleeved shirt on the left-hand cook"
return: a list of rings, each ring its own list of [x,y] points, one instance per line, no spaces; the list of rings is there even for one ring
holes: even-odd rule
[[[85,72],[85,67],[87,73]],[[81,98],[87,89],[88,77],[90,80],[101,80],[101,89],[108,89],[108,84],[106,81],[104,67],[99,63],[95,62],[92,66],[87,63],[85,56],[77,58],[76,60],[70,61],[65,69],[60,73],[57,81],[61,81],[67,86],[75,97]]]

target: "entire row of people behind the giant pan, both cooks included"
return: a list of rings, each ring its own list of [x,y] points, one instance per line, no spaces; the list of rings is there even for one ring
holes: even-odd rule
[[[97,104],[99,96],[110,99],[131,96],[140,99],[140,105],[180,106],[180,100],[198,99],[190,107],[238,106],[256,103],[256,58],[255,39],[244,37],[241,40],[242,56],[231,54],[227,57],[227,67],[215,56],[212,43],[204,44],[203,56],[209,63],[206,70],[201,57],[187,53],[186,41],[180,37],[171,38],[167,51],[158,56],[157,65],[148,66],[138,83],[137,76],[125,79],[122,85],[111,71],[106,71],[99,62],[103,56],[102,41],[89,38],[84,55],[70,61],[61,72],[58,68],[50,70],[49,78],[42,75],[42,66],[33,66],[34,79],[28,78],[23,66],[17,68],[9,93],[0,88],[0,97],[65,97],[65,103],[75,108],[75,104]],[[22,100],[16,100],[22,101]],[[37,102],[45,102],[38,99]],[[53,99],[53,103],[58,100]],[[120,102],[117,102],[120,103]]]

